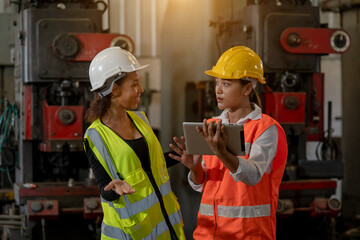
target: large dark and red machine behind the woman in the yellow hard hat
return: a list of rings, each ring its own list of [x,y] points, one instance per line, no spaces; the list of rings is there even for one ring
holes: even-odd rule
[[[350,36],[320,24],[320,7],[310,1],[251,1],[210,21],[218,54],[238,45],[263,60],[267,85],[258,86],[263,112],[275,118],[287,136],[288,159],[280,186],[277,239],[337,239],[341,201],[334,197],[343,161],[331,137],[331,102],[324,103],[320,60],[343,54]],[[261,84],[259,84],[261,85]],[[187,85],[187,121],[217,115],[214,83]],[[197,97],[191,97],[192,95]],[[328,116],[324,109],[328,107]],[[324,118],[328,126],[324,126]],[[319,142],[317,159],[307,159],[306,143]],[[315,161],[312,161],[315,160]]]

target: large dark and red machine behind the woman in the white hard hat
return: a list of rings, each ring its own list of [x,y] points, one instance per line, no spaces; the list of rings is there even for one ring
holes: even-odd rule
[[[2,239],[96,239],[102,210],[82,144],[93,97],[88,69],[102,49],[133,52],[133,42],[102,29],[103,1],[13,3],[18,148],[1,163],[15,166],[15,204],[1,215]]]

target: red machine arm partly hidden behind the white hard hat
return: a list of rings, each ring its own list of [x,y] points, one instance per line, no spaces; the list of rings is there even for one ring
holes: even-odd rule
[[[53,40],[52,51],[64,60],[91,61],[101,50],[112,46],[134,52],[134,43],[130,37],[110,33],[59,34]]]

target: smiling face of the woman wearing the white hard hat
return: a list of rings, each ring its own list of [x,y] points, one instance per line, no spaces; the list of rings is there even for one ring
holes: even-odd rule
[[[125,109],[136,109],[138,107],[141,94],[144,92],[138,71],[129,73],[120,86],[116,85],[116,88],[118,89],[115,92],[113,89],[113,99],[116,100],[117,104]]]

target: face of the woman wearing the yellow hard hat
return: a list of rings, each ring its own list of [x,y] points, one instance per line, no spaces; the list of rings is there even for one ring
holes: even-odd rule
[[[219,109],[236,109],[249,103],[249,84],[243,86],[240,81],[235,79],[216,78],[216,100]]]

